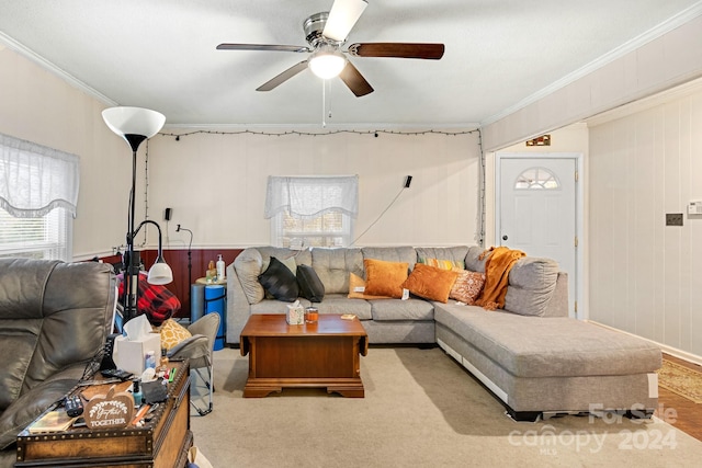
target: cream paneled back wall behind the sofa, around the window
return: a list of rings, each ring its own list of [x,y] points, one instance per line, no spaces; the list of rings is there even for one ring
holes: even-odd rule
[[[263,207],[269,175],[358,174],[356,236],[401,194],[356,246],[475,244],[478,169],[476,132],[374,137],[219,129],[180,140],[157,136],[149,140],[149,212],[160,221],[165,208],[172,208],[171,248],[190,239],[176,232],[178,224],[193,231],[193,244],[200,248],[267,244],[270,221],[263,218]],[[414,179],[403,191],[406,175]]]

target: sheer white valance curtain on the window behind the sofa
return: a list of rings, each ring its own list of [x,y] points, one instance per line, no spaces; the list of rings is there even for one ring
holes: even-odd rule
[[[293,218],[312,219],[341,212],[355,219],[359,214],[359,176],[269,176],[267,219],[287,212]]]

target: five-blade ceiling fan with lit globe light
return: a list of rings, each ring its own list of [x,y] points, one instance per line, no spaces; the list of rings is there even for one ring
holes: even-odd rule
[[[341,78],[341,81],[358,98],[373,92],[373,87],[361,72],[344,57],[344,53],[353,57],[397,57],[438,60],[443,56],[443,44],[420,43],[359,43],[341,50],[351,28],[367,7],[366,0],[335,0],[329,12],[313,14],[303,23],[305,38],[309,46],[269,45],[269,44],[219,44],[218,50],[274,50],[309,53],[307,59],[301,61],[261,84],[257,91],[271,91],[279,84],[309,67],[315,75],[329,79]]]

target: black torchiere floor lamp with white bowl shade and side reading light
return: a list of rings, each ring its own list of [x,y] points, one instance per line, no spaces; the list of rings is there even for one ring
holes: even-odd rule
[[[134,237],[145,224],[156,225],[158,228],[158,256],[156,263],[149,270],[148,282],[151,284],[168,284],[173,281],[173,272],[166,263],[162,255],[161,228],[156,221],[145,220],[139,227],[134,229],[135,218],[135,192],[136,192],[136,152],[141,141],[151,138],[161,129],[166,123],[163,114],[141,107],[110,107],[102,111],[102,118],[107,127],[114,132],[132,148],[132,191],[129,192],[129,221],[127,230],[127,252],[125,259],[123,304],[124,322],[138,315],[136,295],[139,281],[138,252],[134,252]],[[151,271],[154,273],[151,273]]]

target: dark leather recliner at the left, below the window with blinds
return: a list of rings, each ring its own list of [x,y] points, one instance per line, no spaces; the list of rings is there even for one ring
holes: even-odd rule
[[[13,466],[18,433],[99,363],[115,305],[110,265],[0,259],[0,467]]]

